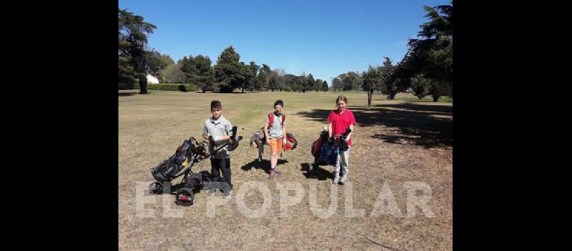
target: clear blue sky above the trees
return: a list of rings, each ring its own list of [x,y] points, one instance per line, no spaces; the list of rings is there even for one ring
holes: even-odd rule
[[[396,63],[427,21],[423,5],[441,0],[404,1],[135,1],[119,7],[157,26],[149,47],[175,62],[202,54],[213,65],[232,45],[240,61],[287,73],[312,73],[331,85],[348,71],[378,66],[383,56]]]

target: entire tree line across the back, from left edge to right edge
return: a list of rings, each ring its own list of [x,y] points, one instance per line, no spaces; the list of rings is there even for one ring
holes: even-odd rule
[[[305,72],[288,74],[265,63],[257,65],[240,61],[233,46],[225,48],[215,65],[208,56],[189,55],[176,63],[169,55],[149,49],[147,35],[157,26],[145,22],[140,15],[119,10],[119,88],[132,89],[138,81],[141,93],[146,91],[146,74],[164,83],[190,83],[202,91],[219,89],[228,93],[235,89],[268,91],[367,91],[371,106],[374,91],[394,99],[400,91],[411,90],[419,99],[431,95],[433,101],[444,95],[452,97],[452,1],[451,5],[424,6],[430,20],[420,25],[418,38],[409,39],[403,59],[394,64],[384,57],[380,66],[368,66],[362,72],[348,71],[331,79],[314,79]]]

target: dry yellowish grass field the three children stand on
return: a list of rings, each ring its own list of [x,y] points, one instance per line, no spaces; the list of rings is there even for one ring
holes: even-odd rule
[[[400,93],[398,99],[411,98],[413,102],[387,101],[383,95],[374,95],[368,109],[363,91],[150,92],[120,93],[118,97],[119,249],[452,249],[452,99],[416,102],[413,95]],[[332,216],[320,218],[312,213],[309,191],[316,188],[319,206],[327,208],[331,204],[333,166],[321,166],[308,174],[308,163],[313,162],[310,149],[340,94],[348,97],[348,108],[358,122],[349,159],[351,201],[347,195],[350,185],[333,186],[337,188],[333,191],[337,209]],[[220,193],[208,197],[201,191],[194,205],[181,207],[174,204],[172,195],[151,196],[137,189],[137,184],[146,187],[154,181],[149,169],[172,155],[183,140],[200,137],[202,125],[210,117],[209,103],[214,99],[223,103],[223,115],[239,127],[239,135],[245,138],[232,152],[235,190],[231,198],[224,200]],[[263,125],[276,99],[283,99],[287,132],[294,133],[299,144],[279,161],[284,174],[269,181],[269,162],[259,164],[255,160],[257,151],[248,146],[248,138]],[[269,159],[268,148],[265,159]],[[210,171],[210,162],[193,168],[201,169]],[[281,214],[277,187],[285,184],[281,182],[300,184],[304,191],[299,203],[286,208],[288,216]],[[426,217],[419,207],[415,216],[408,217],[411,195],[407,194],[406,182],[430,186],[427,205],[434,217]],[[248,209],[255,210],[264,205],[264,194],[247,189],[247,184],[269,189],[272,202],[261,217],[251,218],[239,206],[244,202]],[[391,189],[402,217],[372,217],[384,185]],[[239,194],[244,200],[237,200]],[[141,206],[141,197],[151,202]],[[209,207],[213,201],[223,205]],[[350,202],[352,208],[363,209],[363,216],[348,216]],[[141,209],[153,212],[152,217],[142,217],[138,214]]]

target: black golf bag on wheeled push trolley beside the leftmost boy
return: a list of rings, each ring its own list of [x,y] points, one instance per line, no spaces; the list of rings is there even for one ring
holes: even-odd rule
[[[193,205],[194,191],[210,189],[212,178],[206,171],[193,173],[192,167],[215,156],[225,146],[228,146],[229,151],[235,150],[239,146],[239,141],[243,139],[242,136],[236,137],[236,130],[237,127],[234,126],[230,142],[220,145],[212,153],[207,153],[206,141],[198,142],[193,137],[185,140],[173,156],[151,169],[151,174],[157,181],[149,185],[149,193],[173,194],[172,191],[176,191],[174,195],[177,205]],[[180,176],[183,176],[181,182],[173,185],[171,182]]]

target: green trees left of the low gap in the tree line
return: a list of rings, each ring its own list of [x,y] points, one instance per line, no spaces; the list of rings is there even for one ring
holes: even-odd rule
[[[138,82],[140,93],[147,93],[146,75],[151,74],[163,83],[190,83],[203,92],[218,88],[223,93],[235,89],[271,91],[327,91],[323,79],[312,74],[288,74],[284,69],[273,69],[263,63],[240,61],[233,46],[225,48],[216,64],[201,54],[183,57],[176,63],[166,54],[148,47],[147,35],[157,26],[145,22],[140,15],[119,9],[119,89],[133,89]]]

